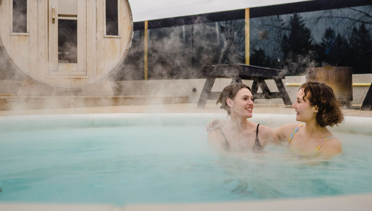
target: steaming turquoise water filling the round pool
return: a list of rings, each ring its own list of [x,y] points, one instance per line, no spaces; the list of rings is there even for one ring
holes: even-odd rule
[[[367,135],[337,134],[344,153],[317,163],[285,146],[221,156],[205,122],[1,132],[0,201],[249,201],[372,193]]]

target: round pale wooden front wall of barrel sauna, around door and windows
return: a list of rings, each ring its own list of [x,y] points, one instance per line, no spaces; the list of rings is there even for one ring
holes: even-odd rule
[[[13,35],[10,33],[12,0],[2,0],[0,35],[12,61],[32,78],[47,84],[62,85],[67,82],[69,86],[84,85],[107,75],[124,59],[133,33],[128,2],[118,0],[119,36],[105,36],[105,0],[86,0],[86,65],[89,79],[73,76],[48,77],[48,0],[27,1],[28,33]]]

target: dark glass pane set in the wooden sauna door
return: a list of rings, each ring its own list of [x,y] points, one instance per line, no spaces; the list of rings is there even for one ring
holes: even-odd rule
[[[76,20],[58,20],[58,62],[77,63]]]

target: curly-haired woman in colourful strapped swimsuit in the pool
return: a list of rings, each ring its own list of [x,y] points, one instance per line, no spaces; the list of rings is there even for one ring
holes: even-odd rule
[[[300,86],[292,105],[296,120],[304,124],[287,124],[274,131],[282,141],[300,155],[333,156],[342,153],[341,142],[327,129],[343,121],[343,114],[333,90],[325,83],[308,81]]]

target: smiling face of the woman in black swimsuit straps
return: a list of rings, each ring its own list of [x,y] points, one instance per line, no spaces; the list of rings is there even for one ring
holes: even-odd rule
[[[235,95],[234,100],[227,99],[227,105],[231,108],[231,113],[252,117],[253,112],[253,95],[248,88],[241,88]]]

